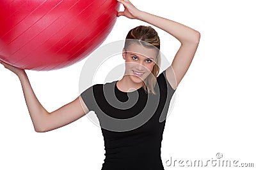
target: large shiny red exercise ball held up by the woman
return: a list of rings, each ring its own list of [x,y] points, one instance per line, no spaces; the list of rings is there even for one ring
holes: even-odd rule
[[[97,48],[116,22],[116,0],[0,0],[0,60],[22,69],[70,66]]]

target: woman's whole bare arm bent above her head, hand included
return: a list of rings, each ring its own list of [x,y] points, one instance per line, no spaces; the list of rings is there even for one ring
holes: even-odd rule
[[[195,56],[200,41],[200,32],[173,20],[140,11],[129,0],[118,1],[124,4],[125,8],[124,11],[118,12],[118,17],[122,15],[147,22],[159,29],[163,29],[163,31],[168,32],[180,41],[181,45],[173,59],[172,65],[166,69],[166,78],[173,89],[176,89]]]

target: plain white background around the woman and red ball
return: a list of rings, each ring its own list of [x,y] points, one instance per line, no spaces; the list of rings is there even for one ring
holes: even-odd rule
[[[206,161],[216,159],[218,152],[223,160],[254,161],[256,166],[254,1],[131,2],[140,10],[201,33],[195,58],[180,82],[173,111],[166,120],[161,148],[164,168],[173,169],[173,164],[165,166],[170,157]],[[118,18],[102,45],[124,39],[137,25],[148,24]],[[179,41],[154,28],[161,38],[161,51],[172,62]],[[56,71],[26,71],[47,111],[79,95],[79,76],[85,60]],[[17,76],[1,66],[0,82],[0,169],[101,168],[105,151],[99,127],[83,117],[60,129],[37,133]],[[175,167],[179,167],[177,162]]]

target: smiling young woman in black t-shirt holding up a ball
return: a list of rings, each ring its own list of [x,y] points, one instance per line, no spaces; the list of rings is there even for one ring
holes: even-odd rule
[[[93,85],[51,113],[36,98],[23,69],[0,63],[19,77],[36,132],[63,127],[95,111],[106,150],[102,169],[164,169],[160,152],[164,118],[173,93],[193,60],[200,33],[138,10],[128,0],[117,1],[125,8],[118,12],[118,17],[147,22],[180,41],[172,65],[159,76],[160,39],[150,26],[138,26],[128,32],[122,53],[125,74],[121,80]]]

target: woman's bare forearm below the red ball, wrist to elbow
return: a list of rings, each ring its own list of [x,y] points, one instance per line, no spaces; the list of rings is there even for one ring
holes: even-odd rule
[[[40,129],[43,129],[42,126],[44,125],[45,118],[47,118],[47,115],[49,115],[49,113],[36,98],[25,71],[22,74],[19,74],[19,80],[22,85],[23,94],[35,131],[39,132]]]

